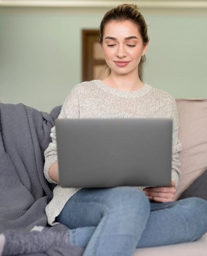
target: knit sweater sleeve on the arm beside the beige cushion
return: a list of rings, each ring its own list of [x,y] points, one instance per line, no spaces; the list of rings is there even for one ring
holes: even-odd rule
[[[180,162],[178,160],[179,152],[182,150],[182,145],[178,139],[178,111],[176,106],[176,101],[174,100],[174,104],[172,107],[172,120],[173,120],[173,132],[172,132],[172,172],[171,172],[171,180],[176,182],[176,188],[178,187],[178,183],[181,177],[181,172],[179,170]]]

